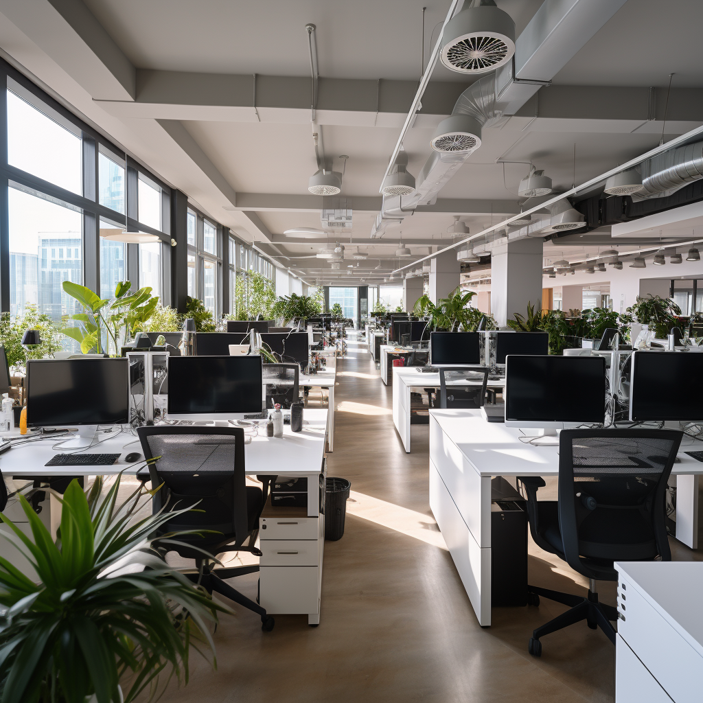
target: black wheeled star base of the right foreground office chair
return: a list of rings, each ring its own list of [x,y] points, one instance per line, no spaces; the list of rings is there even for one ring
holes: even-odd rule
[[[569,625],[576,624],[582,620],[586,620],[588,627],[592,630],[600,629],[605,633],[605,636],[615,644],[615,628],[610,624],[610,621],[617,621],[617,608],[612,605],[605,605],[598,601],[598,593],[588,590],[588,596],[581,598],[579,595],[570,593],[560,593],[559,591],[550,591],[548,588],[537,588],[536,586],[528,586],[528,601],[531,605],[539,605],[539,596],[555,600],[564,605],[571,606],[570,610],[562,613],[550,620],[548,623],[536,628],[529,640],[527,650],[534,657],[540,657],[542,654],[542,643],[539,639],[545,635],[562,630]]]

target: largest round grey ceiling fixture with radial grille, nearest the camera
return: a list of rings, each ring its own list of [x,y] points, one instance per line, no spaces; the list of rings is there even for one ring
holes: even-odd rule
[[[458,73],[496,70],[515,53],[515,22],[494,0],[465,1],[442,34],[441,63]]]

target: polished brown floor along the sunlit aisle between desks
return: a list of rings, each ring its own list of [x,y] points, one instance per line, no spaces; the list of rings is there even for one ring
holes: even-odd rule
[[[572,626],[527,652],[531,631],[564,607],[496,608],[481,628],[427,503],[427,425],[406,454],[392,420],[392,388],[361,344],[338,361],[330,476],[352,482],[344,537],[325,543],[321,620],[259,618],[237,609],[214,635],[217,671],[197,654],[191,681],[169,703],[612,702],[614,649],[599,631]],[[700,552],[675,546],[675,557]],[[585,593],[564,562],[530,546],[529,581]],[[251,597],[256,576],[233,581]],[[612,584],[602,600],[614,604]]]

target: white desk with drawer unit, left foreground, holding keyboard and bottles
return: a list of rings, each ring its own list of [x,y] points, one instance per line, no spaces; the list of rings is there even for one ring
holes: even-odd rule
[[[271,614],[307,614],[309,624],[314,625],[320,621],[325,544],[324,515],[321,515],[319,510],[320,477],[326,472],[325,434],[328,426],[328,411],[305,408],[303,420],[302,432],[291,432],[290,425],[283,425],[283,437],[280,438],[266,437],[266,427],[262,424],[259,427],[259,435],[254,437],[250,444],[245,444],[244,456],[247,475],[307,478],[307,531],[301,535],[297,531],[297,526],[291,527],[288,535],[285,531],[282,533],[280,529],[278,532],[259,531],[259,544],[264,553],[262,557],[264,565],[259,570],[259,600]],[[4,436],[8,437],[11,434],[18,433],[4,433]],[[101,433],[98,437],[103,439],[107,436]],[[0,470],[4,477],[115,475],[120,471],[124,471],[126,475],[135,475],[140,465],[128,469],[124,457],[133,452],[143,456],[138,439],[129,432],[119,432],[114,437],[86,450],[89,453],[120,453],[120,458],[113,465],[44,466],[60,451],[60,449],[51,449],[58,441],[60,438],[53,437],[18,446],[1,454]],[[60,519],[60,511],[57,509],[59,505],[52,496],[52,527],[56,527],[56,522]],[[269,543],[268,538],[275,539]],[[295,540],[296,543],[304,541],[308,548],[298,550],[299,555],[288,557],[285,564],[280,564],[276,562],[275,556],[271,557],[271,550],[275,550],[281,540]],[[298,557],[301,560],[299,564],[296,561]]]

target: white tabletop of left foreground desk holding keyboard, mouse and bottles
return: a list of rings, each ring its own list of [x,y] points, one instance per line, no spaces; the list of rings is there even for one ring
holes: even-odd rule
[[[325,427],[327,425],[327,410],[305,408],[303,412],[304,425],[302,432],[291,432],[290,425],[283,425],[283,437],[266,437],[266,427],[259,427],[259,434],[250,444],[245,444],[245,469],[247,474],[277,474],[299,475],[314,473],[321,470],[325,456]],[[6,433],[5,437],[15,437],[14,433]],[[20,437],[19,434],[16,434]],[[99,434],[98,439],[104,439],[106,434]],[[117,432],[100,444],[96,444],[85,453],[120,454],[120,458],[112,465],[98,466],[44,466],[60,449],[51,449],[63,438],[52,437],[28,444],[20,445],[0,455],[0,470],[6,476],[41,475],[41,476],[89,476],[110,475],[124,471],[126,475],[134,475],[141,462],[134,466],[124,460],[127,454],[138,452],[142,454],[141,444],[136,435],[129,432]]]

